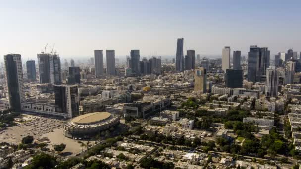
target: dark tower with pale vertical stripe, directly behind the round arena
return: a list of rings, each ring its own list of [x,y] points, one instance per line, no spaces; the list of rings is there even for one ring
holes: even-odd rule
[[[79,115],[79,96],[77,85],[54,86],[55,112],[66,114],[67,117]]]

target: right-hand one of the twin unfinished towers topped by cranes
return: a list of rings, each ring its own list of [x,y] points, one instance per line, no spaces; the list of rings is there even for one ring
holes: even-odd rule
[[[50,68],[50,82],[54,85],[62,84],[60,59],[56,54],[50,55],[49,57],[49,68]]]

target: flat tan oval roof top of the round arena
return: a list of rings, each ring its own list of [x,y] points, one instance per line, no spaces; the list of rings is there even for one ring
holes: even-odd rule
[[[73,123],[76,124],[93,124],[100,121],[103,121],[107,118],[109,118],[111,114],[109,112],[94,112],[94,113],[88,113],[81,116],[78,116],[74,119],[72,119]]]

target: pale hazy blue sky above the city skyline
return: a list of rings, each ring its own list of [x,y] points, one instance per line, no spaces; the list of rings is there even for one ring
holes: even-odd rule
[[[2,56],[35,59],[47,43],[61,57],[175,55],[180,37],[201,55],[223,46],[245,54],[249,45],[299,53],[301,0],[0,0]]]

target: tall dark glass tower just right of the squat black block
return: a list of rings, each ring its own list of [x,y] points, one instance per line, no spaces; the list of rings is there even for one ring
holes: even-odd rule
[[[259,60],[260,48],[256,45],[250,46],[248,52],[248,81],[257,82],[259,80]]]

